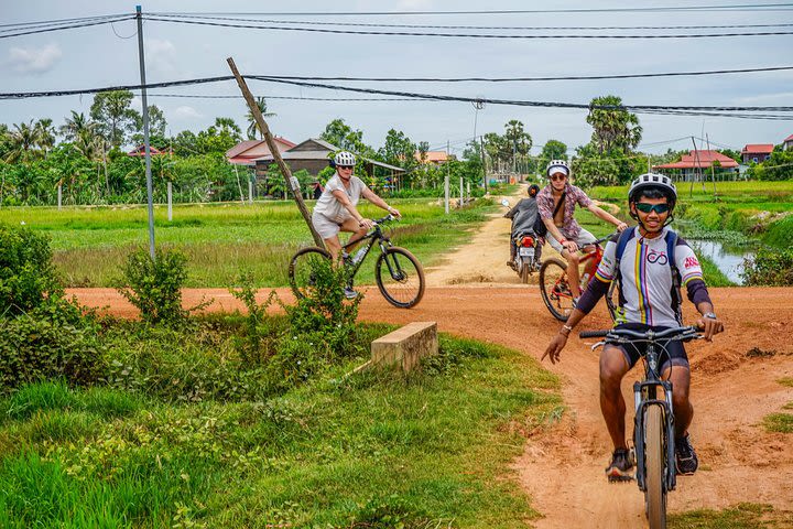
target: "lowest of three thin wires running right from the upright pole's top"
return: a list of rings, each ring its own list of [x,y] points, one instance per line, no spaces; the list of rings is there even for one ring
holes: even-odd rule
[[[322,28],[295,28],[295,26],[278,26],[278,25],[254,25],[254,24],[231,24],[227,22],[208,22],[203,20],[178,20],[144,15],[145,20],[155,22],[166,22],[172,24],[192,24],[192,25],[210,25],[217,28],[235,28],[248,30],[267,30],[267,31],[297,31],[308,33],[329,33],[343,35],[381,35],[381,36],[437,36],[447,39],[498,39],[498,40],[563,40],[563,39],[584,39],[584,40],[659,40],[659,39],[717,39],[717,37],[736,37],[736,36],[775,36],[775,35],[793,35],[793,31],[758,31],[745,33],[677,33],[677,34],[653,34],[644,33],[639,35],[515,35],[515,34],[477,34],[477,33],[430,33],[430,32],[401,32],[401,31],[356,31],[356,30],[330,30]]]

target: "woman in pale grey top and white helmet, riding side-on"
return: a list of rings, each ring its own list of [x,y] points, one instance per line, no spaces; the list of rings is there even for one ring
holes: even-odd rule
[[[351,152],[339,151],[336,153],[330,160],[330,166],[336,169],[336,174],[325,184],[325,190],[317,199],[312,215],[314,229],[325,241],[334,262],[339,258],[339,251],[341,250],[339,231],[352,233],[349,242],[355,242],[362,238],[373,226],[371,219],[365,218],[358,212],[357,206],[361,196],[391,215],[401,216],[398,209],[385,204],[385,201],[367,187],[362,180],[352,174],[355,165],[356,156]],[[347,285],[345,295],[352,299],[358,293],[350,285]]]

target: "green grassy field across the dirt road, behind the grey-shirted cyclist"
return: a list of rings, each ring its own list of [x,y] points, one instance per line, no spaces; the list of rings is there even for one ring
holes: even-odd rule
[[[404,217],[393,225],[394,242],[425,266],[463,244],[466,230],[496,207],[478,201],[446,216],[443,205],[431,198],[393,201],[393,205]],[[384,215],[368,203],[361,213],[372,218]],[[292,202],[175,206],[171,223],[166,215],[164,207],[155,209],[156,242],[187,255],[187,287],[227,287],[241,271],[250,271],[258,287],[285,285],[289,259],[297,248],[313,242]],[[149,244],[144,207],[3,208],[0,223],[24,223],[47,234],[54,261],[69,287],[111,285],[124,257]],[[372,257],[371,264],[361,268],[359,282],[371,281]]]

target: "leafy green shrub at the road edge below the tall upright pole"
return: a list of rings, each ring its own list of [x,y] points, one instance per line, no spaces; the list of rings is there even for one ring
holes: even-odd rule
[[[156,249],[152,260],[140,248],[127,257],[117,290],[139,311],[148,323],[181,323],[187,311],[182,309],[182,285],[187,279],[187,258],[178,250]]]

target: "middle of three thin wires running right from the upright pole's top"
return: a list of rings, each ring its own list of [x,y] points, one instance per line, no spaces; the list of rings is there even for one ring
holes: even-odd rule
[[[434,30],[524,30],[524,31],[602,31],[602,30],[724,30],[724,29],[747,29],[747,28],[790,28],[793,24],[727,24],[727,25],[438,25],[438,24],[387,24],[365,22],[319,22],[301,20],[273,20],[273,19],[242,19],[232,17],[207,17],[180,14],[171,15],[165,13],[150,13],[155,17],[178,17],[202,20],[225,20],[233,22],[258,22],[268,24],[298,24],[298,25],[341,25],[352,28],[412,28]]]

